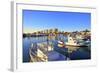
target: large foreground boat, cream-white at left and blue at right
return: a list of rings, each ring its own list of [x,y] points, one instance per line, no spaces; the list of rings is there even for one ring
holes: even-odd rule
[[[54,51],[52,45],[46,43],[32,43],[29,54],[30,62],[47,62],[66,58],[64,55]]]

